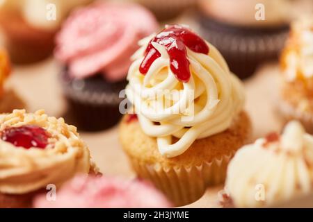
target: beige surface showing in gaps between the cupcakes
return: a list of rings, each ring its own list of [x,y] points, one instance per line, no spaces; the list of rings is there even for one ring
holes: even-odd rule
[[[61,117],[66,104],[58,84],[59,69],[53,58],[35,65],[14,67],[7,87],[13,87],[22,96],[28,105],[27,111],[33,112],[43,108],[47,114]],[[244,83],[246,110],[252,119],[255,138],[281,128],[281,123],[275,116],[278,75],[278,65],[268,64]],[[135,176],[122,153],[116,127],[99,133],[80,134],[104,175]],[[187,207],[217,207],[217,192],[221,188],[222,186],[209,188],[200,200]]]

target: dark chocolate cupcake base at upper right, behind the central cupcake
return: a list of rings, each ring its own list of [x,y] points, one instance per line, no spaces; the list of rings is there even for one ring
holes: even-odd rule
[[[200,15],[200,32],[222,53],[230,70],[248,78],[263,62],[277,60],[289,33],[289,26],[247,28],[230,26]]]

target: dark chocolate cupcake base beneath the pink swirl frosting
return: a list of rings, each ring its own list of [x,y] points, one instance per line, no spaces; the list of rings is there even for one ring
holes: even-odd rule
[[[101,80],[99,78],[99,81]],[[122,114],[119,106],[123,98],[119,98],[118,90],[99,92],[93,91],[92,86],[90,89],[83,89],[86,80],[70,80],[66,72],[61,75],[61,83],[67,100],[65,118],[79,130],[106,130],[120,121]],[[126,85],[126,80],[119,84],[122,90]]]

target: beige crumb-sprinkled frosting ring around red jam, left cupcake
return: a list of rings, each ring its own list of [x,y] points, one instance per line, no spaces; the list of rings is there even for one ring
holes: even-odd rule
[[[63,118],[48,117],[44,110],[34,114],[14,110],[0,115],[0,131],[26,124],[40,126],[50,133],[45,149],[16,147],[0,140],[0,192],[25,194],[61,185],[76,173],[88,173],[90,153],[74,126]]]

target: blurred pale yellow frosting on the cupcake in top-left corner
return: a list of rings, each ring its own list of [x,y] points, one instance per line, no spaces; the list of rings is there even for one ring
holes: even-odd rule
[[[58,28],[67,14],[76,6],[91,0],[0,0],[1,11],[15,10],[20,12],[24,20],[35,28],[54,30]],[[56,9],[56,19],[47,19]]]

